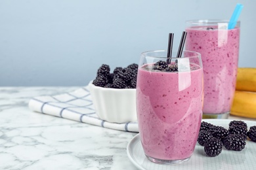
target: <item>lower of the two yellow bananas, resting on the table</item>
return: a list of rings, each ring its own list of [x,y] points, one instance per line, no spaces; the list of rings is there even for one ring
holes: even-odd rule
[[[230,114],[245,118],[256,118],[256,92],[236,90]]]

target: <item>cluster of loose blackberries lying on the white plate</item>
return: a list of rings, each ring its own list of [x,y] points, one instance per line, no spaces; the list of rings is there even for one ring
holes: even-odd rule
[[[241,120],[231,121],[228,129],[202,122],[198,143],[204,146],[204,151],[208,156],[218,156],[223,146],[227,150],[243,150],[247,137],[256,142],[256,126],[251,126],[247,131],[247,124]]]

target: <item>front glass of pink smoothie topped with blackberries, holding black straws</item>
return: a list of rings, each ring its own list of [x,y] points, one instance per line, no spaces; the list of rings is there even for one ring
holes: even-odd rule
[[[196,146],[202,120],[203,69],[198,52],[184,51],[181,58],[166,56],[164,50],[140,56],[137,118],[148,160],[175,164],[188,160]]]

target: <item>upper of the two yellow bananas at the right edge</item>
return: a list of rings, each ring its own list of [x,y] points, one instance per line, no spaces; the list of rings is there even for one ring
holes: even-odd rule
[[[256,92],[256,68],[238,68],[236,90]]]

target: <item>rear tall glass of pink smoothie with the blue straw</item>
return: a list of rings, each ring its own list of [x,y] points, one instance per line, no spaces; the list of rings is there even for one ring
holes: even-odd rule
[[[191,20],[186,31],[186,50],[202,55],[203,118],[228,118],[236,88],[240,22],[228,29],[228,20]]]

